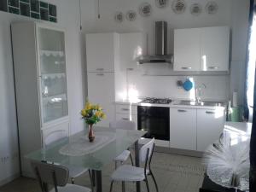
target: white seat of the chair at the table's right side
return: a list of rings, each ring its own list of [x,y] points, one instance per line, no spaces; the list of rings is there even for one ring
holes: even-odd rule
[[[146,174],[148,175],[148,170]],[[111,176],[114,181],[143,181],[145,179],[144,169],[137,166],[119,166]]]

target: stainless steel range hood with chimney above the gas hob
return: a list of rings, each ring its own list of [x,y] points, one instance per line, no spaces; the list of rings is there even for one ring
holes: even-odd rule
[[[137,61],[143,63],[172,63],[172,55],[167,55],[167,22],[155,22],[155,55],[140,56]]]

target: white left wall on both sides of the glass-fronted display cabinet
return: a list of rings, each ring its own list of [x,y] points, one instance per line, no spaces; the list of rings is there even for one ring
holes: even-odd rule
[[[46,23],[65,28],[67,32],[67,86],[71,132],[74,133],[84,127],[79,111],[83,108],[86,90],[82,71],[79,0],[52,0],[49,2],[57,5],[58,23]],[[90,10],[91,8],[86,6],[84,11],[86,9]],[[13,21],[24,20],[32,19],[0,11],[0,184],[19,174],[15,86],[9,26]],[[9,160],[3,163],[1,158],[5,156],[9,156]]]

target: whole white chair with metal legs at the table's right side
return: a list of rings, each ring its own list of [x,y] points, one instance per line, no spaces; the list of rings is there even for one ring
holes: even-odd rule
[[[151,160],[154,152],[154,139],[152,139],[150,142],[143,145],[143,147],[140,149],[139,152],[139,160],[141,163],[144,163],[144,167],[137,167],[137,166],[119,166],[112,174],[111,176],[111,185],[110,185],[110,192],[112,192],[113,189],[113,182],[119,181],[122,182],[122,191],[125,191],[125,182],[141,182],[145,181],[147,190],[149,192],[148,187],[148,177],[151,176],[154,181],[154,185],[156,188],[156,191],[158,192],[158,186],[156,183],[156,180],[154,178],[153,172],[151,170]]]

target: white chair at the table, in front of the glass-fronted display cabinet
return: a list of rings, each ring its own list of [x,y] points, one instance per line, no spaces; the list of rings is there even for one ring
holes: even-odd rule
[[[67,137],[67,135],[63,132],[63,130],[56,130],[51,132],[47,137],[44,138],[44,148],[49,148],[49,145],[57,140],[63,139]],[[70,166],[70,165],[63,165],[66,166],[69,171],[69,177],[71,178],[71,182],[74,184],[74,178],[79,177],[80,175],[84,174],[85,172],[89,172],[90,177],[90,184],[91,189],[93,191],[93,179],[91,176],[91,172],[89,169],[84,167],[77,167],[77,166]]]

